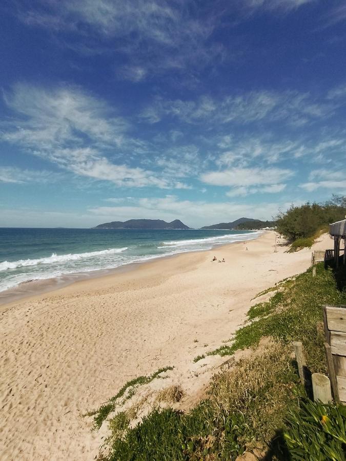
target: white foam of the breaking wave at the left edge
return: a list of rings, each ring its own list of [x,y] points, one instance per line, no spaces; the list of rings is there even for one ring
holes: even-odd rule
[[[99,252],[75,253],[69,255],[56,255],[56,253],[53,253],[52,256],[47,258],[20,259],[13,262],[4,261],[0,263],[0,271],[16,269],[18,267],[37,266],[38,264],[65,263],[67,261],[77,261],[79,259],[94,258],[95,256],[97,257],[101,255],[115,255],[117,253],[125,252],[127,249],[127,246],[125,246],[124,248],[111,248],[107,250],[101,250]]]

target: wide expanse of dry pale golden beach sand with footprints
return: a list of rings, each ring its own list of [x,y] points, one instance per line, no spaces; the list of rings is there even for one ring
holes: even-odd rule
[[[159,367],[175,366],[189,399],[225,360],[194,364],[203,345],[220,346],[257,292],[309,266],[310,249],[273,253],[274,241],[268,232],[1,306],[1,459],[93,459],[101,434],[80,414]]]

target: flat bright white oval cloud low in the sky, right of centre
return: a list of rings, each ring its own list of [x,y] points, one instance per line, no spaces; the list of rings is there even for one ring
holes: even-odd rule
[[[214,171],[201,175],[201,181],[219,186],[249,187],[253,185],[273,185],[290,179],[294,172],[279,168],[241,168]]]

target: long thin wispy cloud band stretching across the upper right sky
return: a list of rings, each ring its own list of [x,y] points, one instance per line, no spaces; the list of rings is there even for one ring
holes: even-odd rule
[[[141,113],[149,123],[163,118],[178,118],[186,123],[249,124],[261,121],[282,121],[301,127],[321,117],[328,117],[334,111],[331,101],[315,100],[309,93],[286,90],[250,91],[239,95],[216,99],[201,96],[197,100],[164,100],[156,98],[154,103]]]

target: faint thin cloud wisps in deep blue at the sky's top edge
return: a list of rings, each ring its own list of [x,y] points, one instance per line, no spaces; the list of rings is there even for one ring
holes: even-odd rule
[[[26,2],[15,14],[28,26],[72,34],[74,40],[61,43],[78,53],[124,56],[127,62],[116,73],[133,82],[166,70],[199,69],[225,53],[220,43],[209,40],[220,11],[207,5],[197,10],[193,0]]]

